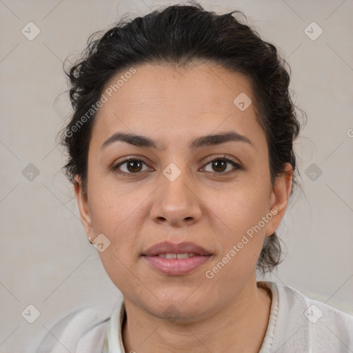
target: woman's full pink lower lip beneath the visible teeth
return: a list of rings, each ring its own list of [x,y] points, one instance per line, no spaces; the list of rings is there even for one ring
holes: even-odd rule
[[[187,259],[165,259],[160,256],[143,256],[148,261],[154,270],[161,274],[168,274],[169,276],[181,276],[199,268],[206,263],[209,256],[195,255]]]

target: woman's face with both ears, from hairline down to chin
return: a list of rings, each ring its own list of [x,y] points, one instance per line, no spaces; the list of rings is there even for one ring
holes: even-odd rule
[[[179,320],[202,319],[254,289],[265,236],[285,212],[291,168],[272,188],[265,133],[241,74],[141,65],[110,88],[121,76],[105,86],[92,129],[87,198],[75,183],[81,219],[92,239],[103,234],[99,256],[125,300],[161,318],[174,310]],[[117,133],[154,146],[110,139]],[[221,134],[232,139],[210,138]],[[144,256],[162,241],[192,242],[208,255]]]

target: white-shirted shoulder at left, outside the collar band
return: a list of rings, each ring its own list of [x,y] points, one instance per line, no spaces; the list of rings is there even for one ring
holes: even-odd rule
[[[31,343],[31,352],[77,352],[79,346],[86,353],[97,352],[97,347],[103,347],[113,309],[105,305],[85,306],[43,325],[43,331]]]

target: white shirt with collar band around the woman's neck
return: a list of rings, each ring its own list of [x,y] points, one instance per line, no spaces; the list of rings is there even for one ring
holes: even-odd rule
[[[259,353],[353,352],[353,316],[309,299],[288,285],[258,283],[272,294],[270,319]],[[79,310],[52,347],[42,342],[33,352],[128,353],[121,332],[124,317],[123,299],[110,316],[103,316],[94,307]]]

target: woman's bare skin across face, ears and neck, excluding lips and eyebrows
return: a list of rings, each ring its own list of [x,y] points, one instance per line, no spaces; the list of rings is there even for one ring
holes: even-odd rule
[[[170,65],[141,65],[136,70],[97,114],[88,152],[87,194],[79,177],[74,183],[88,237],[103,233],[111,242],[99,256],[125,299],[125,351],[258,352],[271,297],[256,285],[256,261],[265,236],[279,227],[285,213],[292,167],[285,164],[272,188],[265,133],[256,121],[250,81],[243,75],[205,63],[187,70]],[[241,92],[253,102],[243,112],[233,103]],[[231,141],[194,151],[188,147],[197,137],[230,131],[245,135],[252,145]],[[102,150],[115,132],[149,137],[165,149],[119,141]],[[219,161],[223,154],[242,168],[229,162],[212,167],[208,158]],[[143,162],[133,168],[120,165],[132,177],[112,170],[126,156]],[[163,174],[170,163],[181,171],[174,181]],[[206,278],[205,272],[272,208],[276,215],[261,231],[212,279]],[[165,240],[192,241],[212,256],[183,276],[159,274],[141,253]],[[178,312],[177,321],[165,317],[170,305]]]

